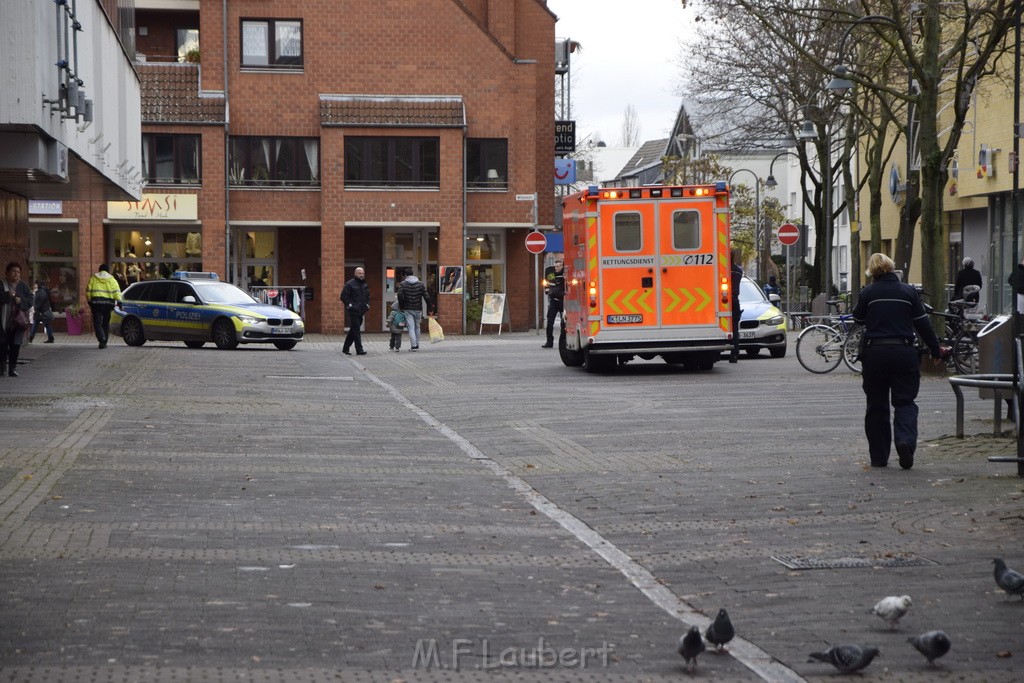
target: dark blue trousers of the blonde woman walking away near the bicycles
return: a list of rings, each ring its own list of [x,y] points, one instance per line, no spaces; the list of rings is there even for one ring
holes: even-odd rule
[[[864,434],[872,465],[889,462],[892,443],[918,445],[918,404],[921,358],[912,346],[871,346],[864,350],[861,376],[867,411]],[[889,425],[889,401],[893,419]],[[895,436],[895,439],[893,438]]]

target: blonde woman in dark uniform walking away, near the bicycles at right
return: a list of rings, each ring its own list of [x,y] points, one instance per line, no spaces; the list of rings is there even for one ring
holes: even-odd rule
[[[939,340],[932,330],[918,291],[899,282],[895,264],[885,254],[871,254],[867,274],[872,284],[860,292],[853,319],[864,326],[861,353],[861,383],[867,398],[864,434],[871,467],[889,464],[895,437],[899,465],[913,467],[918,447],[918,390],[921,388],[921,358],[914,347],[914,331],[938,365]],[[892,402],[892,422],[889,404]]]

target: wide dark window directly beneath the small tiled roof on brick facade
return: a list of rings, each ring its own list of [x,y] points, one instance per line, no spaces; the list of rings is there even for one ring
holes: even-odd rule
[[[440,138],[346,137],[348,187],[440,187]]]

